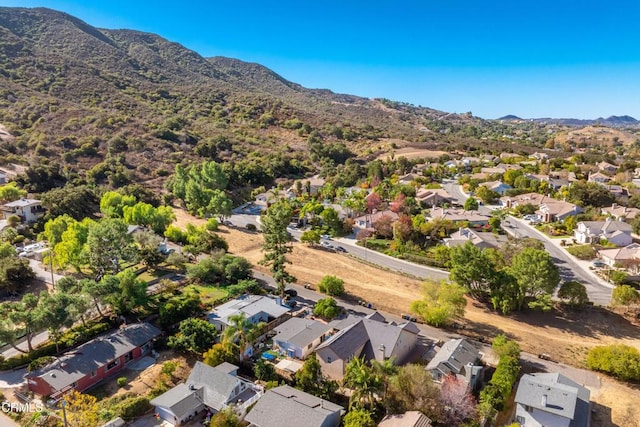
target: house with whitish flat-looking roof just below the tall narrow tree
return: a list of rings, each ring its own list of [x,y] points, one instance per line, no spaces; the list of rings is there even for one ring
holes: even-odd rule
[[[219,331],[224,330],[232,322],[230,317],[241,314],[253,324],[272,322],[287,315],[291,309],[282,304],[280,298],[264,295],[243,295],[219,305],[209,312],[209,323],[216,325]]]

